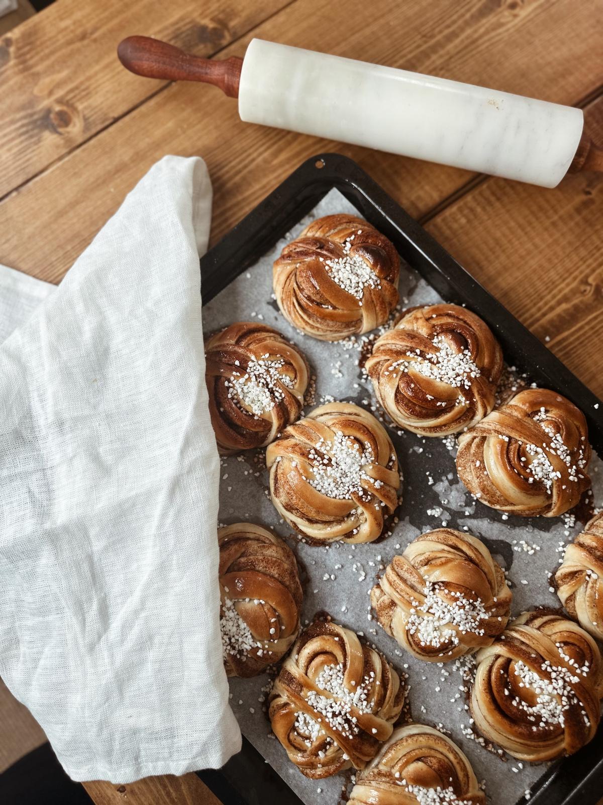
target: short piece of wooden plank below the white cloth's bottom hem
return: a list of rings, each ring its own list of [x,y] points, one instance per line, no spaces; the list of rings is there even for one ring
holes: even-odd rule
[[[221,805],[196,774],[164,774],[124,786],[96,780],[84,788],[96,805]]]

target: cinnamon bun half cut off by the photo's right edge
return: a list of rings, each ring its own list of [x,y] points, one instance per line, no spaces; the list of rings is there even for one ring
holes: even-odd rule
[[[565,549],[555,581],[568,613],[603,641],[603,512]]]

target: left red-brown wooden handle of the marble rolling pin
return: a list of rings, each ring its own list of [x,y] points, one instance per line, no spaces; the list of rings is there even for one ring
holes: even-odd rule
[[[228,97],[239,97],[243,60],[231,56],[224,61],[191,56],[160,39],[129,36],[117,47],[117,56],[130,72],[164,81],[203,81],[219,87]]]

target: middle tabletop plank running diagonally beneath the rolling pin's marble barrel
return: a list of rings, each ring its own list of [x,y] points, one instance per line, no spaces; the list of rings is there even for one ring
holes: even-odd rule
[[[392,35],[384,35],[384,19]],[[503,6],[374,0],[371,14],[364,0],[300,0],[254,33],[556,101],[579,101],[598,76],[596,27],[586,6],[572,0]],[[249,38],[221,55],[243,54]],[[472,178],[453,168],[250,126],[240,122],[236,103],[214,88],[170,85],[0,204],[0,229],[7,233],[0,262],[58,281],[125,193],[166,153],[207,160],[215,242],[293,167],[326,149],[353,156],[416,216]]]

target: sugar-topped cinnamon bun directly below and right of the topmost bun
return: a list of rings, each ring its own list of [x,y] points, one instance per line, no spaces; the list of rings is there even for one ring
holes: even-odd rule
[[[375,341],[366,368],[396,424],[421,436],[446,436],[492,411],[503,353],[479,316],[434,304],[404,312]]]

